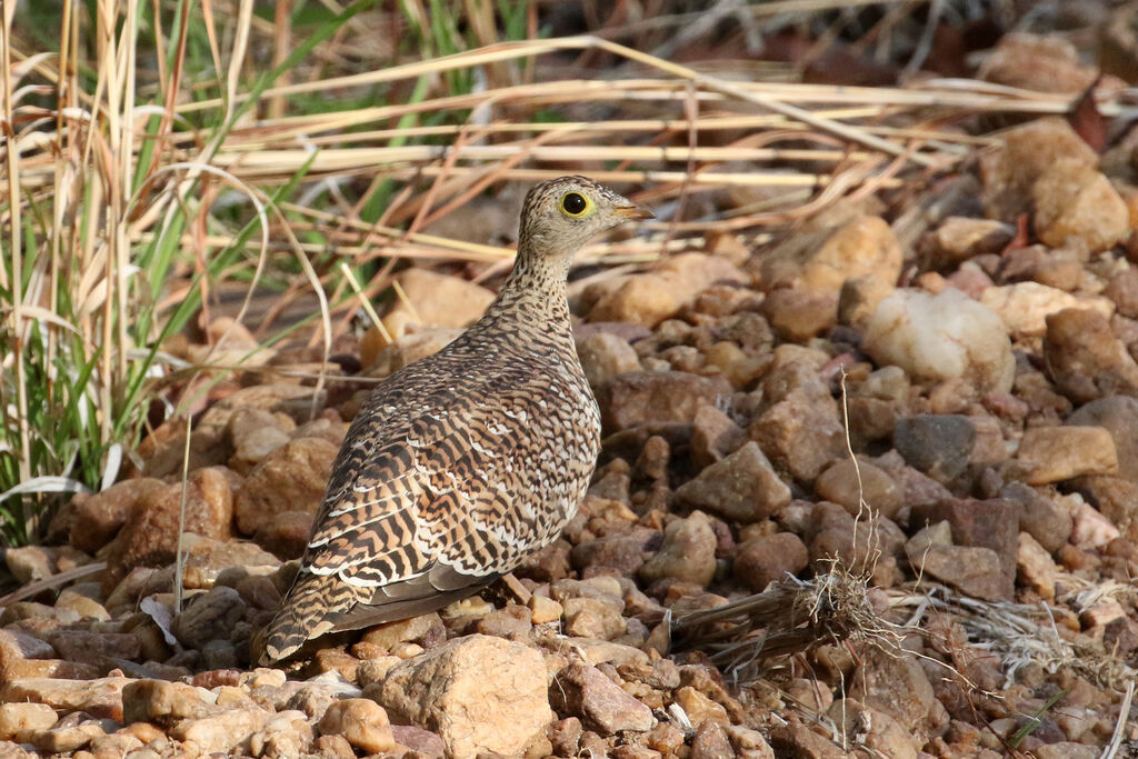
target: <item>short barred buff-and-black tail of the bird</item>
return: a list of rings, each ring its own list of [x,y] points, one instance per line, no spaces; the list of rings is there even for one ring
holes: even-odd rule
[[[270,666],[292,655],[312,638],[330,632],[336,619],[355,603],[355,589],[336,575],[302,570],[280,611],[254,640],[254,660]]]

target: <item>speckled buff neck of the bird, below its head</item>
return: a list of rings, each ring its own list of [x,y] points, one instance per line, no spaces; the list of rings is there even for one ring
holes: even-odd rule
[[[552,331],[571,339],[566,280],[572,257],[539,256],[520,249],[513,271],[486,311],[495,321],[517,321],[519,327]]]

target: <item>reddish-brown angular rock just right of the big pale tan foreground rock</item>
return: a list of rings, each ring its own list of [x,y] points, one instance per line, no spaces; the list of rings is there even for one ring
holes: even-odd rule
[[[559,712],[580,718],[585,728],[601,735],[644,732],[655,724],[651,709],[625,693],[596,667],[579,661],[554,676],[550,701]]]

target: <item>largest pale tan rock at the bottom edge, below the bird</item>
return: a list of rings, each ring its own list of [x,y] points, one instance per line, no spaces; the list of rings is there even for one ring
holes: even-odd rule
[[[517,753],[552,719],[535,650],[486,635],[448,641],[388,671],[379,701],[397,721],[438,733],[448,756]]]

